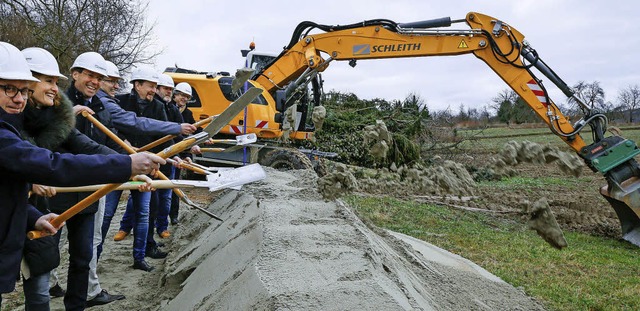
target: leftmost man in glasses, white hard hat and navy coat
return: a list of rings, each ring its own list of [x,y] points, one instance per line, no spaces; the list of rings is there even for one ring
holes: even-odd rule
[[[132,174],[153,172],[165,161],[153,155],[71,155],[53,153],[22,139],[16,118],[29,95],[31,75],[23,54],[13,45],[0,42],[0,308],[2,293],[14,290],[27,230],[55,234],[49,221],[55,214],[42,214],[27,204],[30,183],[80,186],[120,183]],[[15,126],[14,126],[15,125]],[[102,174],[95,174],[99,170]]]

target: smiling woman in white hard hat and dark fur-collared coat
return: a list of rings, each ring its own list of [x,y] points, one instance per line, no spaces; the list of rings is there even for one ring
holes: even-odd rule
[[[37,47],[22,51],[34,77],[40,82],[31,83],[32,95],[27,101],[22,135],[34,145],[56,152],[70,152],[75,154],[113,154],[115,151],[100,145],[75,128],[75,114],[73,104],[59,92],[58,79],[67,79],[59,72],[56,59],[47,50]],[[40,211],[49,208],[49,197],[56,195],[54,188],[34,185],[34,195],[30,202]],[[42,258],[50,257],[51,249],[48,245],[26,241],[25,249],[36,253]],[[54,254],[51,254],[54,255]],[[25,258],[28,258],[25,253]],[[25,267],[25,266],[23,266]],[[26,263],[26,270],[29,270]],[[39,275],[24,273],[25,308],[37,310],[38,306],[49,303],[49,272]]]

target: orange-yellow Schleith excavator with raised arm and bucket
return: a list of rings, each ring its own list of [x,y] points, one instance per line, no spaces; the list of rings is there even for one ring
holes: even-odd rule
[[[466,23],[469,29],[449,29]],[[311,33],[312,31],[320,33]],[[518,30],[491,16],[471,12],[465,19],[449,17],[411,23],[390,20],[367,20],[351,25],[300,23],[284,50],[263,64],[248,81],[264,91],[246,114],[239,114],[223,133],[255,133],[262,150],[271,146],[269,139],[288,133],[291,139],[310,139],[315,130],[305,122],[313,106],[319,105],[319,74],[333,61],[473,54],[484,61],[522,98],[593,170],[604,175],[607,184],[600,193],[616,211],[623,238],[640,246],[640,167],[634,159],[640,153],[635,142],[620,136],[605,137],[607,118],[587,105],[542,60]],[[562,114],[547,89],[535,74],[544,75],[569,99],[579,104],[583,117],[575,123]],[[189,82],[199,94],[192,104],[194,116],[206,118],[220,113],[239,94],[230,92],[232,78],[224,75],[175,71],[169,73],[176,82]],[[311,92],[307,85],[311,85]],[[221,100],[222,98],[226,100]],[[200,107],[198,107],[200,106]],[[283,131],[285,111],[293,106],[298,116],[291,131]],[[589,126],[592,141],[580,136]],[[264,157],[282,155],[278,147],[267,150]],[[258,151],[259,153],[260,151]],[[260,157],[259,157],[260,158]],[[271,159],[273,160],[273,159]],[[262,160],[261,160],[262,161]],[[269,164],[269,163],[267,163]]]

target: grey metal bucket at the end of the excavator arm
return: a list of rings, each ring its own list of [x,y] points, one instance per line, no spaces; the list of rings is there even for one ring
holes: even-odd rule
[[[640,246],[640,178],[632,177],[620,184],[600,188],[620,220],[622,238]]]

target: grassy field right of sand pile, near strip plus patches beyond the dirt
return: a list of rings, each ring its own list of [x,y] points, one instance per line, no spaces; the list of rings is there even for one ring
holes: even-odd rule
[[[637,127],[620,127],[620,130],[623,137],[640,142]],[[492,153],[499,152],[510,140],[529,140],[570,151],[544,127],[458,130],[456,134],[467,138],[458,146],[463,153],[471,156],[485,153],[484,158],[491,158]],[[590,131],[586,130],[583,138],[589,143]],[[599,174],[569,178],[553,167],[535,166],[520,173],[522,175],[508,179],[479,182],[477,193],[528,193],[535,198],[544,190],[557,202],[573,201],[576,205],[589,202],[608,209],[608,204],[597,193],[604,184]],[[587,200],[586,195],[591,195],[590,199]],[[640,310],[640,248],[625,241],[565,231],[569,247],[556,250],[528,230],[522,219],[500,218],[409,199],[353,195],[345,200],[365,222],[466,257],[521,287],[549,310]],[[570,205],[564,209],[570,209]]]

